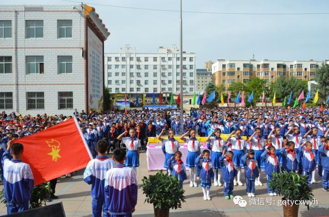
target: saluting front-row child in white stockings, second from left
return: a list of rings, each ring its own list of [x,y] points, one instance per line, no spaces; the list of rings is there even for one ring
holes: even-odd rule
[[[211,182],[214,179],[214,171],[213,171],[213,163],[210,159],[210,151],[205,149],[203,151],[203,154],[200,154],[200,156],[197,157],[195,160],[195,163],[197,164],[197,167],[200,168],[200,175],[201,175],[201,187],[202,191],[204,192],[204,200],[210,201],[210,187]]]

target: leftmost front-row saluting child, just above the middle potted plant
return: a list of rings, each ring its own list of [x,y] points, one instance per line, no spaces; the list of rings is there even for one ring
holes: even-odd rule
[[[172,156],[167,161],[168,169],[171,170],[171,175],[177,177],[179,186],[183,188],[184,180],[187,180],[186,168],[181,160],[181,152],[177,151],[175,156]]]

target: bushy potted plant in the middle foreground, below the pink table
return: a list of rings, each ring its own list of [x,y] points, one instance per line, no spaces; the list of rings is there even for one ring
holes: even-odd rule
[[[181,208],[185,202],[184,190],[179,187],[177,177],[157,171],[155,175],[144,176],[142,179],[144,201],[153,204],[155,217],[168,217],[169,209]]]

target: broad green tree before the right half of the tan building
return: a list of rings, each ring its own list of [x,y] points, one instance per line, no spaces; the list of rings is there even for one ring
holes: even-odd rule
[[[304,94],[307,93],[307,81],[297,80],[295,77],[279,77],[277,81],[271,84],[271,97],[276,93],[276,101],[283,102],[284,97],[287,97],[287,100],[290,95],[290,91],[293,91],[293,100],[298,97],[299,94],[304,90]],[[306,97],[306,96],[305,96]]]

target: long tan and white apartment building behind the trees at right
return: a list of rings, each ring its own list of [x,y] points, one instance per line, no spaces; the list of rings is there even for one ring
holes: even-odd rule
[[[271,61],[271,60],[217,60],[212,64],[212,80],[216,86],[227,88],[231,83],[247,83],[252,77],[264,79],[268,89],[278,77],[296,77],[297,80],[313,81],[321,61]]]

